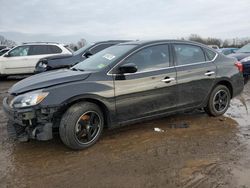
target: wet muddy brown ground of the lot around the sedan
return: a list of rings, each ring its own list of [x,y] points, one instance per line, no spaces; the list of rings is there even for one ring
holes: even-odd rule
[[[17,81],[0,81],[0,101]],[[8,139],[0,106],[0,187],[250,187],[249,107],[250,83],[225,116],[197,111],[105,131],[75,152],[58,137]]]

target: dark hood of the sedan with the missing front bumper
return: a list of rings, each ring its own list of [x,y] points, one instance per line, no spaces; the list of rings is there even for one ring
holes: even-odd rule
[[[43,89],[54,85],[81,81],[87,79],[90,74],[91,72],[73,71],[70,69],[49,71],[17,82],[10,88],[9,93],[18,95],[28,91]]]

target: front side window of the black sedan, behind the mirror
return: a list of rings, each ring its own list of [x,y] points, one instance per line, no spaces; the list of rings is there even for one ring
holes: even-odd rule
[[[154,71],[169,67],[169,48],[167,44],[144,48],[130,57],[123,64],[133,63],[137,66],[137,72]]]

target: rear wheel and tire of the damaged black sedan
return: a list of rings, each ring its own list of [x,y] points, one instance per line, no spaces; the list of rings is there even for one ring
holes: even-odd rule
[[[210,116],[223,115],[229,108],[231,94],[224,85],[217,85],[211,92],[205,112]]]

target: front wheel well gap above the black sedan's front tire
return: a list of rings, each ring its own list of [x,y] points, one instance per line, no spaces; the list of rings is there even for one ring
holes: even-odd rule
[[[63,107],[63,109],[61,110],[61,114],[64,114],[66,112],[66,110],[69,109],[72,105],[74,105],[78,102],[83,102],[83,101],[94,103],[100,107],[100,109],[103,113],[103,116],[104,116],[103,117],[104,118],[104,127],[108,127],[109,122],[110,122],[109,110],[105,104],[103,104],[101,101],[96,100],[96,99],[83,98],[83,99],[78,99],[78,100],[75,100],[73,102],[70,102]]]

